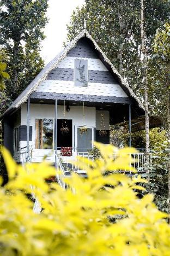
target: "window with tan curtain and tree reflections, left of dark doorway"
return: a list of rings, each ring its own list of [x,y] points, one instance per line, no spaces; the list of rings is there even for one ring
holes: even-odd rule
[[[53,149],[52,119],[35,119],[35,148]]]

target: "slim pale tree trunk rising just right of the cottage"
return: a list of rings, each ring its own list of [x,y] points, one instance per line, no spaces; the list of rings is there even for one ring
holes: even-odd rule
[[[147,49],[144,36],[144,7],[141,0],[141,51],[143,54],[143,88],[144,88],[144,107],[145,107],[145,171],[149,172],[149,108],[148,108],[148,80],[147,80]]]

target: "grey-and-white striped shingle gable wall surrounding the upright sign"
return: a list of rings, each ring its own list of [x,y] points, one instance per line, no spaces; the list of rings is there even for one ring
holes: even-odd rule
[[[74,65],[76,59],[88,60],[88,86],[75,86]],[[75,48],[58,63],[41,82],[36,92],[54,92],[58,94],[80,94],[93,96],[114,96],[128,98],[118,80],[101,62],[87,42],[80,40]]]

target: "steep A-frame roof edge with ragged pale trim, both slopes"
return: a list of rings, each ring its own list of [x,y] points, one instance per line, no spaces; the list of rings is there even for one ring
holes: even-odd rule
[[[58,66],[58,63],[66,57],[67,53],[76,46],[76,43],[81,38],[86,37],[90,42],[92,42],[96,51],[98,51],[100,60],[104,63],[104,65],[108,68],[108,70],[116,75],[119,80],[120,86],[126,92],[126,94],[131,98],[131,101],[143,112],[144,107],[141,101],[137,98],[135,93],[131,90],[129,85],[125,82],[122,75],[117,71],[117,69],[113,66],[111,61],[107,58],[105,53],[100,49],[99,45],[95,42],[95,40],[90,36],[86,29],[82,30],[72,42],[70,42],[64,50],[62,50],[51,62],[49,62],[41,71],[40,73],[33,79],[33,81],[27,86],[27,88],[16,98],[16,100],[11,104],[11,106],[7,109],[4,114],[7,114],[14,109],[19,108],[23,103],[25,103],[29,97],[29,95],[34,92],[39,84],[43,82],[46,78],[48,73],[50,73],[54,68]],[[3,114],[3,115],[4,115]],[[3,117],[3,115],[1,117]]]

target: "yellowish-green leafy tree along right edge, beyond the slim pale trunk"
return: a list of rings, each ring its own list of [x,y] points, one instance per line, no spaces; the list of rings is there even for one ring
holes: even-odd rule
[[[162,117],[165,120],[166,134],[168,139],[168,152],[169,161],[167,162],[168,169],[168,200],[170,211],[170,25],[167,23],[164,25],[164,29],[159,29],[156,32],[153,50],[154,55],[151,60],[151,67],[153,71],[151,73],[154,76],[153,90],[158,91],[155,100],[162,105]],[[163,96],[160,100],[160,94]]]

